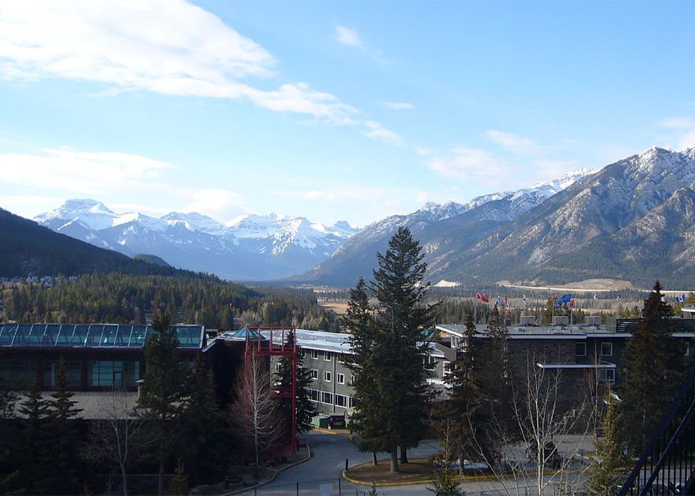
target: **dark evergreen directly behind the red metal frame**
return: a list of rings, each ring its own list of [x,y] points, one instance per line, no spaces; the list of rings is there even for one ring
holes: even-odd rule
[[[296,335],[294,329],[289,331],[285,346],[296,346]],[[291,391],[292,387],[292,357],[282,356],[279,360],[279,372],[277,373],[279,387],[284,391]],[[309,386],[313,380],[311,372],[304,368],[304,358],[301,356],[301,348],[296,346],[296,430],[306,432],[311,429],[311,419],[316,415],[316,407],[311,402]],[[292,399],[282,397],[279,402],[279,410],[284,419],[287,433],[291,433],[292,422]]]

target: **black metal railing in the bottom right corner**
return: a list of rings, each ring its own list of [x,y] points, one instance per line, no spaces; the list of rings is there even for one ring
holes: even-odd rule
[[[695,494],[695,368],[619,492],[652,494]]]

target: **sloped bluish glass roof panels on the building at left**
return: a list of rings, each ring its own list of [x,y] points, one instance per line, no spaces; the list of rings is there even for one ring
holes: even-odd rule
[[[201,348],[203,326],[172,326],[179,348]],[[142,348],[152,326],[121,324],[0,324],[0,346]]]

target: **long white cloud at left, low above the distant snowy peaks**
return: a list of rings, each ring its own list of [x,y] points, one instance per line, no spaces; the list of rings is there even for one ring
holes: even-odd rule
[[[128,153],[43,150],[43,155],[0,155],[3,182],[44,189],[101,194],[160,179],[174,165]]]

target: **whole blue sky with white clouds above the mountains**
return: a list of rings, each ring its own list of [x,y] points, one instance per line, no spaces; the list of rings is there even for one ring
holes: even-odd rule
[[[695,146],[695,2],[0,0],[0,206],[356,226]]]

